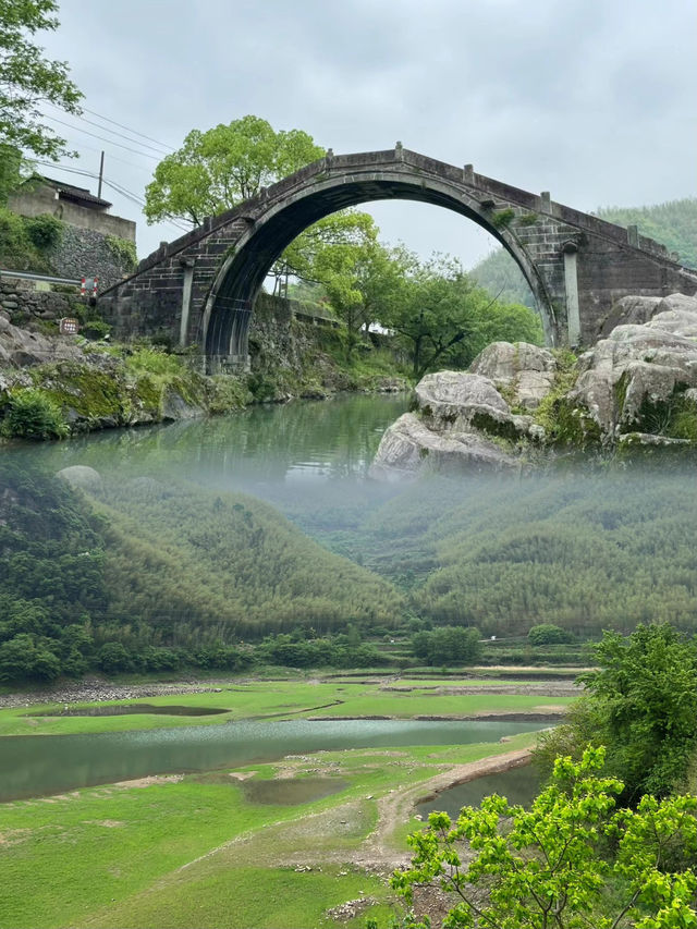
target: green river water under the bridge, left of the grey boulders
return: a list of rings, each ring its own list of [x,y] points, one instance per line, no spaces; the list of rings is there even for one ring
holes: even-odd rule
[[[3,454],[59,470],[89,465],[124,479],[192,479],[268,497],[334,478],[364,478],[386,428],[407,408],[400,395],[347,395],[253,406],[230,416],[94,432],[65,442],[17,443]]]

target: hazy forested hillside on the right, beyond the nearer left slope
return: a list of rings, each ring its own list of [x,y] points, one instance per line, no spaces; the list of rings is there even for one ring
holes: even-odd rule
[[[523,635],[552,622],[595,635],[665,620],[697,632],[692,484],[577,468],[420,481],[372,511],[355,545],[433,623]]]

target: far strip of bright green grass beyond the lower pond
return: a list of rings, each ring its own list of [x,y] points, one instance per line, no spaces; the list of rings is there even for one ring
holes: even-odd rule
[[[487,681],[526,686],[526,682]],[[529,682],[527,682],[529,684]],[[376,683],[354,683],[347,680],[332,682],[273,681],[229,683],[220,693],[178,694],[164,697],[143,697],[120,702],[142,702],[155,706],[215,707],[228,710],[211,717],[180,716],[120,716],[120,717],[39,717],[41,711],[60,710],[56,704],[0,710],[2,735],[66,735],[73,733],[124,732],[129,730],[162,729],[181,725],[219,725],[230,720],[269,717],[274,719],[299,717],[395,717],[412,719],[419,716],[469,717],[505,712],[550,712],[568,705],[567,696],[539,696],[525,694],[445,694],[438,687],[476,687],[482,682],[464,680],[447,683],[431,681],[400,681],[400,687],[412,690],[387,690]],[[117,702],[117,701],[112,701]],[[77,706],[106,706],[83,704]]]

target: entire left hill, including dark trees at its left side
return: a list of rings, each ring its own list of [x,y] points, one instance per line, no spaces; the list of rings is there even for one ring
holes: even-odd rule
[[[389,582],[245,496],[140,478],[87,497],[0,466],[0,683],[168,667],[172,648],[207,667],[219,646],[393,625],[401,607]]]

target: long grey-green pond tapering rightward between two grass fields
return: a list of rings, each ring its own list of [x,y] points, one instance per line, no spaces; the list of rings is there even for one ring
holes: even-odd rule
[[[10,735],[0,741],[0,800],[57,794],[150,774],[239,768],[320,749],[498,742],[503,736],[533,732],[539,725],[298,719],[89,735]]]

